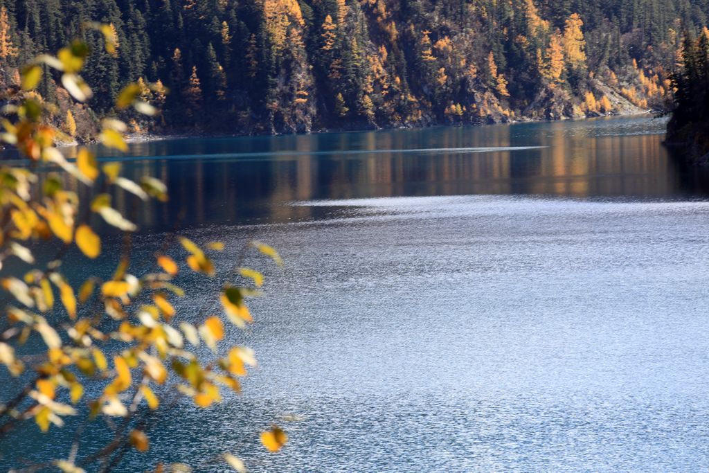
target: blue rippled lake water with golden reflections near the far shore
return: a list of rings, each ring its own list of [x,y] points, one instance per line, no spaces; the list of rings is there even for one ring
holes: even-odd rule
[[[118,471],[228,471],[228,451],[253,472],[706,472],[709,178],[663,131],[641,116],[133,145],[126,173],[172,189],[138,216],[138,260],[179,226],[225,241],[222,269],[248,238],[286,267],[250,260],[268,282],[256,323],[228,333],[260,362],[243,394],[175,406]],[[181,317],[222,282],[191,281]],[[257,447],[272,421],[277,455]],[[67,445],[28,428],[4,453]]]

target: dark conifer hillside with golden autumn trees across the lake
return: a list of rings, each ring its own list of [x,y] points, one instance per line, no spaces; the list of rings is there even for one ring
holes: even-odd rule
[[[663,108],[685,32],[708,13],[709,0],[0,0],[0,85],[81,37],[88,106],[52,79],[40,87],[79,139],[131,81],[157,82],[143,97],[164,110],[124,116],[136,131],[594,116]],[[115,57],[87,21],[115,28]]]

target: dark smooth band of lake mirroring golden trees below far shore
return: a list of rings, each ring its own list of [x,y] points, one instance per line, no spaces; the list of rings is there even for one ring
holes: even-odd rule
[[[674,199],[705,196],[702,171],[661,146],[665,121],[640,116],[514,126],[429,128],[135,143],[128,176],[150,173],[169,206],[147,228],[306,220],[289,201],[384,196],[535,194]],[[474,148],[474,150],[471,150]],[[481,149],[483,148],[483,149]],[[516,148],[516,149],[515,149]],[[520,149],[521,148],[521,149]],[[125,206],[118,196],[118,206]],[[183,211],[184,213],[180,213]]]

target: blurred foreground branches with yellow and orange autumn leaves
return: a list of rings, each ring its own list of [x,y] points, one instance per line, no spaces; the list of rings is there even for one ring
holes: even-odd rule
[[[110,40],[106,35],[107,51]],[[12,106],[3,110],[0,138],[30,164],[0,167],[0,214],[5,221],[0,228],[0,290],[7,302],[0,325],[0,365],[10,377],[4,384],[5,404],[0,406],[1,451],[11,452],[11,445],[16,445],[11,435],[27,423],[48,435],[74,439],[66,457],[56,451],[38,452],[47,457],[38,464],[18,465],[25,471],[116,470],[129,450],[150,448],[155,412],[169,406],[171,399],[185,397],[206,408],[218,403],[227,390],[239,391],[240,379],[255,366],[250,349],[227,345],[225,323],[244,328],[253,321],[247,301],[262,285],[262,274],[240,263],[233,271],[228,269],[220,276],[225,284],[213,301],[220,306],[219,315],[201,312],[191,322],[178,322],[174,301],[185,293],[178,286],[180,276],[191,272],[193,277],[217,277],[220,271],[212,258],[223,250],[223,243],[198,245],[171,235],[163,245],[157,243],[155,257],[136,262],[130,248],[138,226],[118,210],[112,196],[139,208],[148,201],[167,201],[165,184],[149,175],[138,182],[127,179],[121,176],[120,162],[99,165],[85,147],[77,150],[75,162],[57,149],[61,133],[50,125],[54,108],[40,99],[37,87],[48,67],[73,101],[88,101],[93,91],[80,75],[88,54],[87,45],[77,41],[57,57],[38,57],[23,68],[20,90],[3,97]],[[154,84],[145,85],[157,91]],[[128,84],[114,107],[123,113],[132,109],[154,115],[155,108],[142,95],[140,84]],[[125,122],[106,118],[99,139],[106,148],[125,152],[126,130]],[[123,245],[116,248],[112,237],[102,235],[110,233],[99,230],[104,225],[122,235]],[[251,242],[247,249],[281,264],[272,247]],[[47,250],[59,251],[47,258]],[[82,284],[67,277],[67,267],[86,265],[102,254],[115,264],[112,275],[96,274]],[[199,299],[205,297],[199,294]],[[33,344],[30,350],[24,346],[28,340]],[[202,343],[211,355],[195,349]],[[82,422],[65,425],[72,417],[95,418],[108,425],[106,444],[98,450],[83,447]],[[57,430],[62,425],[77,430],[70,434]],[[286,433],[277,426],[261,434],[270,451],[286,441]],[[243,462],[229,452],[220,460],[245,471]],[[158,471],[163,468],[157,466]],[[184,465],[167,468],[186,471]]]

